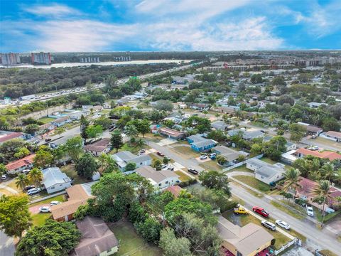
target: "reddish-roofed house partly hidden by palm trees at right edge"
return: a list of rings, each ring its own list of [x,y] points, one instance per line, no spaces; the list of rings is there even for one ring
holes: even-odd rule
[[[318,186],[318,182],[316,181],[311,181],[308,178],[303,178],[300,177],[299,182],[300,186],[296,189],[296,196],[298,198],[302,198],[306,201],[308,201],[309,204],[322,209],[323,205],[314,203],[313,200],[316,197],[313,193],[313,190]],[[339,188],[335,188],[332,186],[330,188],[330,201],[328,201],[328,208],[326,209],[328,212],[333,212],[330,207],[335,206],[335,205],[340,205],[340,203],[337,201],[337,197],[341,196],[341,190]]]

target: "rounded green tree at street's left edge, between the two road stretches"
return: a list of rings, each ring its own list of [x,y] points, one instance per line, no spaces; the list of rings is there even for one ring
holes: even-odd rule
[[[207,188],[224,191],[227,196],[231,196],[229,188],[229,178],[220,171],[202,171],[199,174],[199,181]]]

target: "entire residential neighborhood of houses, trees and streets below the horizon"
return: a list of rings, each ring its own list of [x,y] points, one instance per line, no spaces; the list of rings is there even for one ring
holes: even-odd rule
[[[340,53],[186,56],[0,68],[15,255],[341,255]]]

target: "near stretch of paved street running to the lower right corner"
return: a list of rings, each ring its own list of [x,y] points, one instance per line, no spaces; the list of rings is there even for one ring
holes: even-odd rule
[[[242,198],[246,203],[246,207],[251,209],[252,206],[261,206],[269,210],[271,217],[275,219],[281,219],[289,223],[294,230],[304,235],[309,240],[312,240],[317,245],[320,245],[319,249],[329,249],[336,255],[341,255],[341,243],[335,238],[335,235],[330,233],[328,230],[318,230],[315,224],[311,223],[309,220],[298,220],[287,213],[283,213],[278,210],[275,206],[269,203],[266,198],[257,198],[251,195],[244,188],[230,183],[232,188],[232,194]]]

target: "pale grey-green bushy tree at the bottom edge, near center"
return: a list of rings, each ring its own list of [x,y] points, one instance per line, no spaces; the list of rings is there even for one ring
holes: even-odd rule
[[[191,256],[190,240],[187,238],[176,238],[171,228],[161,230],[159,247],[165,256]]]

